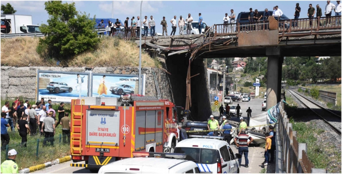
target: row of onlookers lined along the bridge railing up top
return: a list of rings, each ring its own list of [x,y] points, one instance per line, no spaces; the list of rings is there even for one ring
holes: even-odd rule
[[[328,17],[326,25],[331,25],[331,20],[329,19],[329,17],[332,16],[332,11],[335,11],[335,16],[341,16],[341,9],[342,9],[342,5],[340,3],[340,0],[337,0],[337,4],[333,4],[330,2],[330,0],[327,1],[326,7],[325,7],[325,11],[324,14],[326,17]],[[298,19],[301,13],[301,7],[299,6],[299,3],[296,3],[296,7],[295,7],[295,13],[294,13],[294,19]],[[309,4],[309,9],[307,12],[308,18],[314,18],[316,14],[316,17],[322,17],[323,12],[322,9],[320,7],[319,4],[316,5],[316,9],[313,7],[312,4]],[[273,13],[269,12],[268,9],[265,9],[265,16],[275,16],[275,18],[277,19],[278,16],[282,16],[283,15],[283,11],[281,9],[279,9],[278,5],[273,7]],[[228,16],[228,13],[225,14],[224,18],[223,18],[223,22],[226,27],[226,32],[228,29],[228,23],[235,23],[235,12],[233,9],[231,9],[231,14]],[[253,21],[260,21],[260,19],[263,17],[263,14],[258,12],[258,9],[255,9],[253,11],[252,8],[250,8],[250,12],[248,14],[248,19],[249,22],[253,22]],[[172,31],[171,31],[171,35],[175,35],[176,33],[176,28],[177,28],[177,23],[178,23],[178,27],[179,27],[179,34],[182,35],[184,32],[184,26],[186,26],[186,33],[187,34],[192,34],[191,33],[191,29],[192,29],[192,22],[193,22],[193,17],[191,16],[191,14],[189,13],[188,16],[184,19],[182,17],[182,15],[180,15],[179,19],[176,19],[177,16],[174,16],[174,18],[172,18],[170,20],[171,26],[172,26]],[[123,26],[121,26],[121,22],[119,21],[119,19],[116,19],[115,23],[112,23],[111,21],[108,21],[108,25],[106,27],[111,28],[109,31],[109,35],[113,36],[115,34],[115,32],[120,32],[121,29],[120,27],[123,27],[125,30],[125,37],[128,37],[128,32],[131,32],[132,37],[135,36],[139,36],[140,35],[140,27],[143,29],[143,35],[147,36],[147,32],[148,29],[150,29],[150,35],[154,36],[155,35],[155,28],[156,28],[156,21],[154,20],[153,16],[150,16],[150,19],[147,19],[147,16],[144,17],[143,20],[140,20],[140,16],[137,16],[137,20],[135,20],[135,17],[133,16],[130,19],[130,25],[128,23],[129,21],[129,17],[126,17],[126,20],[124,21]],[[319,22],[319,21],[317,21]],[[340,22],[336,20],[336,24]],[[164,32],[167,36],[167,21],[165,20],[165,17],[163,17],[163,20],[161,20],[160,25],[162,26],[163,29],[163,33],[162,35],[164,36]],[[203,17],[202,14],[199,13],[199,18],[198,18],[198,30],[199,33],[202,33],[202,23],[203,23]],[[312,21],[310,21],[310,25],[312,25]],[[322,26],[322,23],[320,22],[320,25]],[[297,27],[297,22],[294,22],[292,24],[293,27]],[[102,27],[105,28],[105,24],[103,23],[103,20],[101,20],[101,22],[98,24],[98,27]],[[206,28],[206,30],[208,29],[208,27]]]

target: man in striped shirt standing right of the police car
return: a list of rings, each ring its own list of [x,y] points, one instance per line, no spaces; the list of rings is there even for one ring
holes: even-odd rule
[[[239,144],[237,143],[237,140],[239,140]],[[248,141],[250,140],[250,141]],[[236,137],[234,139],[234,143],[237,147],[239,147],[239,154],[242,156],[245,156],[245,167],[248,168],[248,145],[253,142],[253,138],[250,137],[247,133],[246,133],[246,129],[242,129],[241,134],[238,135],[238,137]],[[241,161],[242,158],[239,158],[239,166],[241,166]]]

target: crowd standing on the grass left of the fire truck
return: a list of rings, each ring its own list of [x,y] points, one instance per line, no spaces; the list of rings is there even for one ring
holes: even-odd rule
[[[29,100],[24,102],[19,100],[19,97],[11,105],[9,101],[5,101],[1,108],[1,150],[4,150],[10,141],[7,128],[10,128],[12,133],[15,133],[17,129],[23,147],[26,147],[27,135],[44,136],[43,146],[46,146],[46,142],[50,142],[50,145],[53,146],[56,127],[60,124],[62,125],[63,143],[70,144],[69,113],[65,112],[64,103],[61,102],[57,109],[57,121],[57,114],[51,103],[50,99],[45,103],[44,98],[32,105]]]

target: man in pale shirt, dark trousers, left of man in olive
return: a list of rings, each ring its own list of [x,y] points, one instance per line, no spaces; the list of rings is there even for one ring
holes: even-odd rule
[[[48,117],[44,118],[42,126],[44,127],[45,132],[43,147],[46,146],[47,141],[49,141],[50,145],[53,146],[55,134],[55,121],[52,118],[52,112],[48,113]],[[43,129],[41,129],[40,132],[43,132]]]

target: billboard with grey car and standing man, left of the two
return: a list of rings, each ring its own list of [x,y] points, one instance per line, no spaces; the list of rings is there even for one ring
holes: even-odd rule
[[[37,70],[37,98],[58,102],[71,102],[89,96],[89,73]]]

